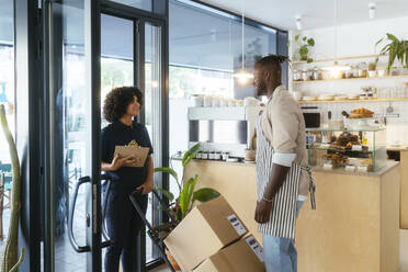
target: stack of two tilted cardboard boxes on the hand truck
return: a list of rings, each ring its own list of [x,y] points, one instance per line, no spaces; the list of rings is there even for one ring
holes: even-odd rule
[[[165,243],[182,271],[263,271],[260,245],[252,236],[241,239],[245,235],[247,228],[220,196],[194,207]],[[225,270],[228,265],[233,270]]]

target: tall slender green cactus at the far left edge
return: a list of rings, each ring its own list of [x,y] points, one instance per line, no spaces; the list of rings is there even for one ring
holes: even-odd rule
[[[20,174],[20,161],[15,147],[13,136],[10,133],[9,124],[5,117],[4,105],[0,104],[0,122],[4,137],[9,145],[11,165],[13,169],[13,181],[11,189],[11,215],[9,234],[3,246],[3,254],[1,258],[1,272],[18,271],[19,265],[24,260],[24,248],[21,249],[19,258],[19,222],[20,222],[20,209],[21,209],[21,174]]]

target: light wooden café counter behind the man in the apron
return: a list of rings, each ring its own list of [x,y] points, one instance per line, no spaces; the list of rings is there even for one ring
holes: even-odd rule
[[[261,242],[253,219],[254,165],[192,161],[185,177],[219,191]],[[297,220],[299,272],[395,272],[399,263],[399,163],[378,173],[314,171],[317,211],[306,201]]]

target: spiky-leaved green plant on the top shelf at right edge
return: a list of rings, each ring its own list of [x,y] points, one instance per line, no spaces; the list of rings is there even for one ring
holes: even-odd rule
[[[389,70],[393,68],[396,59],[399,60],[404,68],[408,68],[408,41],[398,39],[395,35],[387,33],[386,37],[383,37],[376,42],[375,47],[377,47],[384,41],[388,41],[388,43],[381,49],[379,56],[388,54],[387,72],[389,73]],[[377,61],[378,57],[376,58],[376,63]]]

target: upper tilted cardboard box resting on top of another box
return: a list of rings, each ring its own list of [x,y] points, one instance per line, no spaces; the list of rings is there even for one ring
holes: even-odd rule
[[[194,207],[165,239],[165,243],[181,270],[192,271],[246,234],[242,220],[219,196]]]

